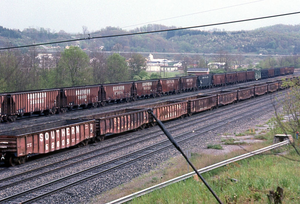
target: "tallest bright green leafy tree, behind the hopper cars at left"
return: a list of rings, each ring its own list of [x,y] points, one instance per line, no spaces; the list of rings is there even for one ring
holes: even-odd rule
[[[68,75],[71,86],[85,85],[89,83],[88,55],[79,47],[70,46],[61,53],[59,66],[61,71]]]

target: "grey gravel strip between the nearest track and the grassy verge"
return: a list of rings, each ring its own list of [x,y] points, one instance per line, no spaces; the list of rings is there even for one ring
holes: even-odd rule
[[[181,143],[180,145],[182,149],[192,149],[192,152],[206,149],[208,142],[219,142],[221,135],[225,132],[231,134],[233,134],[233,132],[244,132],[249,127],[255,127],[257,124],[265,123],[273,116],[272,112],[273,111],[270,110],[262,111],[259,114],[252,115],[250,118],[241,119],[235,123],[223,126],[216,131],[208,132],[189,142]],[[207,112],[207,114],[209,113]],[[179,155],[179,152],[177,152],[175,148],[170,148],[167,152],[161,152],[160,154],[143,159],[140,162],[135,162],[134,164],[122,167],[122,169],[116,170],[113,175],[99,176],[89,182],[52,194],[51,197],[46,197],[47,200],[44,200],[43,203],[86,203],[91,197],[129,182],[132,178],[149,172],[151,169],[177,155]]]

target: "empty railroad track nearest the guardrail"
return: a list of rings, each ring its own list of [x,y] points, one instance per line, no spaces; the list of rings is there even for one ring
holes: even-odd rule
[[[244,113],[240,113],[240,114],[233,115],[231,117],[227,117],[223,120],[220,120],[216,123],[212,123],[208,126],[194,129],[193,131],[187,132],[182,135],[178,135],[178,136],[176,136],[176,140],[179,143],[190,140],[190,139],[192,139],[194,137],[198,137],[199,135],[202,135],[208,131],[220,128],[222,126],[225,126],[228,123],[232,123],[234,121],[240,120],[241,118],[253,115],[263,109],[267,109],[267,108],[270,108],[273,106],[274,106],[273,102],[268,103],[268,105],[264,104],[263,108],[256,107],[256,108],[250,109],[248,111],[245,111]],[[91,179],[93,179],[95,177],[98,179],[106,178],[107,176],[112,174],[113,171],[122,170],[124,167],[126,167],[128,165],[132,165],[132,163],[140,161],[143,158],[152,156],[154,154],[158,154],[158,152],[167,151],[166,149],[169,149],[171,146],[172,145],[170,144],[170,142],[168,140],[161,141],[157,144],[154,144],[154,145],[149,146],[144,149],[140,149],[138,151],[132,152],[125,156],[115,158],[113,160],[104,162],[102,164],[95,165],[86,170],[82,170],[80,172],[73,173],[69,176],[65,176],[63,178],[56,179],[54,181],[51,181],[51,182],[46,183],[41,186],[37,186],[37,187],[29,189],[27,191],[11,195],[9,197],[1,199],[0,203],[11,203],[11,202],[30,203],[30,202],[38,200],[42,197],[45,197],[49,194],[53,194],[57,191],[61,191],[62,189],[68,188],[70,186],[74,186],[79,183],[82,184],[84,182],[89,182]]]

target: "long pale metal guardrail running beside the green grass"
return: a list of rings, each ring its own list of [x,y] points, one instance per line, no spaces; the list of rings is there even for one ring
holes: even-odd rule
[[[257,154],[260,154],[262,152],[266,152],[268,150],[271,150],[271,149],[274,149],[274,148],[277,148],[277,147],[280,147],[280,146],[283,146],[283,145],[287,145],[289,143],[289,140],[286,140],[286,141],[283,141],[283,142],[280,142],[280,143],[277,143],[277,144],[273,144],[271,146],[267,146],[267,147],[264,147],[262,149],[258,149],[258,150],[255,150],[253,152],[248,152],[246,154],[243,154],[243,155],[240,155],[240,156],[237,156],[237,157],[234,157],[234,158],[231,158],[231,159],[227,159],[225,161],[221,161],[219,163],[216,163],[216,164],[213,164],[213,165],[210,165],[208,167],[204,167],[202,169],[199,169],[198,172],[199,173],[205,173],[205,172],[208,172],[210,170],[213,170],[213,169],[216,169],[218,167],[222,167],[226,164],[230,164],[232,162],[235,162],[235,161],[239,161],[239,160],[242,160],[242,159],[245,159],[245,158],[248,158],[248,157],[251,157],[251,156],[254,156],[254,155],[257,155]],[[116,199],[116,200],[113,200],[113,201],[110,201],[106,204],[121,204],[121,203],[125,203],[125,202],[128,202],[130,200],[132,200],[133,198],[136,198],[136,197],[140,197],[142,195],[145,195],[145,194],[148,194],[152,191],[155,191],[155,190],[158,190],[158,189],[161,189],[161,188],[164,188],[168,185],[171,185],[173,183],[176,183],[176,182],[179,182],[179,181],[182,181],[182,180],[185,180],[185,179],[188,179],[192,176],[196,175],[195,172],[190,172],[190,173],[187,173],[187,174],[184,174],[182,176],[179,176],[179,177],[176,177],[174,179],[170,179],[168,181],[165,181],[163,183],[160,183],[158,185],[155,185],[155,186],[152,186],[152,187],[149,187],[149,188],[146,188],[142,191],[138,191],[136,193],[133,193],[133,194],[130,194],[128,196],[125,196],[125,197],[122,197],[122,198],[119,198],[119,199]]]

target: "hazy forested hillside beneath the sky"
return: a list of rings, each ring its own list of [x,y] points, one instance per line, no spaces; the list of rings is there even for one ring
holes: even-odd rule
[[[131,31],[107,27],[90,34],[90,37],[166,30],[176,27],[149,24]],[[85,33],[88,33],[84,31]],[[26,28],[15,31],[0,26],[0,46],[21,46],[88,37],[87,34],[68,34],[44,28]],[[300,54],[300,25],[274,25],[251,31],[178,30],[152,34],[61,43],[59,46],[79,45],[82,49],[104,46],[104,51],[127,52],[181,52],[216,53],[219,49],[230,53],[253,53],[263,55]],[[52,45],[57,46],[57,45]]]

